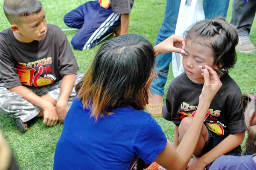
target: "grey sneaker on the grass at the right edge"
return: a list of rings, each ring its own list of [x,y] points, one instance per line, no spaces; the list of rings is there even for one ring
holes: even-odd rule
[[[241,53],[252,54],[255,53],[255,46],[250,41],[249,36],[239,36],[239,42],[236,50]]]

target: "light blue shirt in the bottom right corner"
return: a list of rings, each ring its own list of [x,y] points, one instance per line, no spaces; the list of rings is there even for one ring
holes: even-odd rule
[[[247,156],[220,156],[213,162],[209,170],[256,170],[252,159],[256,154]]]

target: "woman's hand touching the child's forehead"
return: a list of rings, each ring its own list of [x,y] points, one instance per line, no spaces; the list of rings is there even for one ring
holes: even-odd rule
[[[171,35],[168,38],[166,38],[163,42],[157,44],[154,47],[156,56],[163,53],[168,52],[177,52],[185,54],[185,51],[183,50],[185,48],[186,39],[183,37],[180,37],[178,35]],[[178,47],[182,47],[178,48]]]

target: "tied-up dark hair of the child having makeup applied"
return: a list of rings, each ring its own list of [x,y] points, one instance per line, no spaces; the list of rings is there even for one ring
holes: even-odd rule
[[[225,19],[217,17],[213,20],[198,21],[185,32],[185,38],[192,43],[213,49],[213,64],[219,70],[228,72],[235,65],[238,34],[235,27]]]

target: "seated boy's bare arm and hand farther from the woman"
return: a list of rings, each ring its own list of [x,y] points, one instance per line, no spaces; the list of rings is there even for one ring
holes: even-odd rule
[[[20,94],[24,99],[28,100],[35,106],[38,106],[43,111],[43,124],[47,126],[54,126],[57,123],[58,116],[53,104],[50,101],[42,99],[34,92],[28,90],[28,88],[19,85],[13,88],[9,88],[11,92]]]

